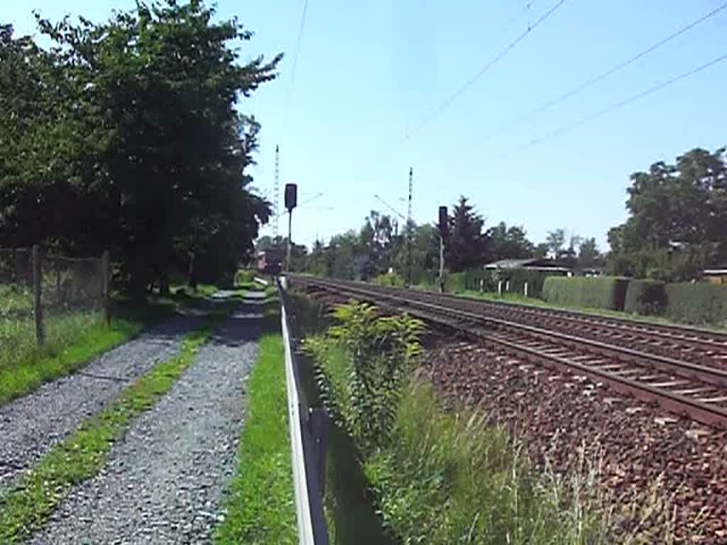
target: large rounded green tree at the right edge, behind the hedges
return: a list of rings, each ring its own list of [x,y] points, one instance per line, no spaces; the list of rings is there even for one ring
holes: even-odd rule
[[[608,231],[611,272],[691,280],[727,263],[726,148],[696,148],[631,175],[627,221]]]

